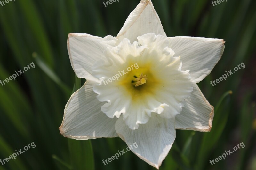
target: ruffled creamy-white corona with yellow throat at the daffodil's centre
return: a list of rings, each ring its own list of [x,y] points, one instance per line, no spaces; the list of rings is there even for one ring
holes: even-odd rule
[[[155,112],[163,118],[179,114],[182,102],[190,95],[193,84],[189,71],[182,71],[180,57],[168,47],[162,35],[148,33],[133,44],[124,39],[118,46],[104,51],[106,60],[96,62],[93,76],[104,81],[120,72],[118,80],[93,87],[99,101],[106,101],[101,109],[108,117],[123,118],[130,129],[138,129]],[[127,68],[134,63],[138,68]],[[125,71],[122,71],[125,70]]]

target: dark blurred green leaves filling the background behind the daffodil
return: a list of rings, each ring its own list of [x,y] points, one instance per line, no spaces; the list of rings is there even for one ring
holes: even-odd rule
[[[256,1],[224,1],[217,6],[206,0],[152,2],[167,36],[226,41],[220,62],[199,83],[215,107],[212,131],[177,130],[160,170],[255,170]],[[0,6],[0,80],[29,63],[36,64],[16,81],[0,85],[0,159],[31,142],[36,144],[15,160],[0,164],[0,170],[154,169],[132,152],[104,166],[102,159],[126,148],[120,138],[74,141],[61,136],[58,129],[75,77],[67,52],[68,33],[116,36],[138,3],[119,0],[105,7],[101,0],[17,0]],[[246,68],[212,87],[211,80],[242,62]],[[76,78],[74,89],[80,86]],[[244,148],[211,166],[210,159],[241,142]]]

